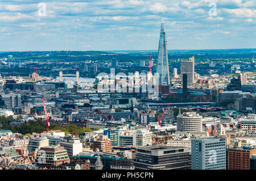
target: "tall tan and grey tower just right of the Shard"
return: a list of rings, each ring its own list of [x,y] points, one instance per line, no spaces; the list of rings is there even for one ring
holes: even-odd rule
[[[181,85],[183,84],[183,74],[187,74],[187,85],[193,86],[195,76],[195,57],[192,56],[187,61],[181,61]]]

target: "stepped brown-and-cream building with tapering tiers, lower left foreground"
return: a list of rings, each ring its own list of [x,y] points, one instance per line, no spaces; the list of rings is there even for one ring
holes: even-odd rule
[[[63,163],[69,163],[69,157],[67,150],[63,146],[53,147],[47,146],[42,147],[36,154],[35,163],[39,167],[55,167]]]

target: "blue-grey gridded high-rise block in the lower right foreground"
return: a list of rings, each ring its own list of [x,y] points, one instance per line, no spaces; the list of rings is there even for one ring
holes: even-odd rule
[[[226,139],[199,138],[191,140],[191,170],[225,170]]]

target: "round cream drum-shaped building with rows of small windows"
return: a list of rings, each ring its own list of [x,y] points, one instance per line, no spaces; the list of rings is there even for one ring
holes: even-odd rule
[[[196,112],[184,112],[177,116],[178,132],[202,132],[203,117]]]

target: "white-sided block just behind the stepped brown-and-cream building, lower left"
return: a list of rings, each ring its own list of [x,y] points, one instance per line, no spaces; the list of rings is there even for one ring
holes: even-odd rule
[[[60,142],[60,146],[64,146],[68,151],[69,158],[82,152],[82,143],[80,142],[80,139],[72,137],[69,134],[63,138],[63,141]]]

